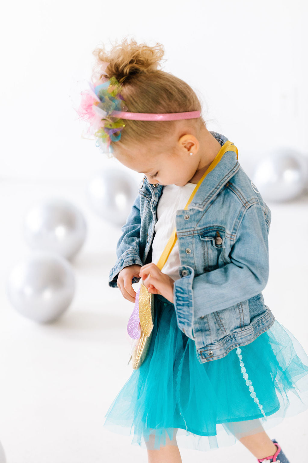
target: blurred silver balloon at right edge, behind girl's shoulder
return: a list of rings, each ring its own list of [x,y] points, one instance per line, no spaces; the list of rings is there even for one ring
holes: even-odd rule
[[[261,160],[252,175],[265,201],[283,202],[302,194],[306,183],[302,156],[292,150],[275,151]]]

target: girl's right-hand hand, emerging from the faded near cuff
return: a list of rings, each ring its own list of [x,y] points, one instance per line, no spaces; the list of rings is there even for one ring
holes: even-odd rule
[[[139,276],[151,294],[160,294],[173,304],[174,280],[163,273],[155,263],[147,263],[140,269]]]

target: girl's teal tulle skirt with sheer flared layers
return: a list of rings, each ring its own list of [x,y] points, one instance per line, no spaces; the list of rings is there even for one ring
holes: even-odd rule
[[[308,356],[277,320],[252,343],[206,363],[199,363],[193,339],[161,295],[155,295],[153,323],[144,363],[105,415],[105,428],[133,432],[132,444],[210,450],[308,408]]]

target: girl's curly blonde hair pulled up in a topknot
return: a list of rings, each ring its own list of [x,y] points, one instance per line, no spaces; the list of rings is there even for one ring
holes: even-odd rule
[[[137,44],[134,39],[124,38],[121,44],[113,44],[110,51],[102,48],[93,50],[97,58],[92,69],[92,82],[115,76],[122,85],[121,94],[127,110],[133,113],[181,113],[202,111],[201,103],[193,89],[175,75],[158,69],[162,61],[163,45]],[[102,72],[103,62],[109,65]],[[166,61],[166,60],[164,60]],[[145,141],[159,141],[167,137],[177,121],[142,121],[125,119],[121,139],[111,146],[143,144]],[[190,124],[205,125],[200,116],[190,119]]]

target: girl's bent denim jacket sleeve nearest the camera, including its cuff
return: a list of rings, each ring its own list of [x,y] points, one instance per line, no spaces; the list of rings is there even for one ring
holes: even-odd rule
[[[238,304],[266,287],[268,228],[260,204],[243,214],[229,258],[224,267],[195,278],[192,267],[179,267],[180,275],[185,269],[186,276],[175,280],[173,296],[177,323],[184,332],[191,334],[194,318]]]

